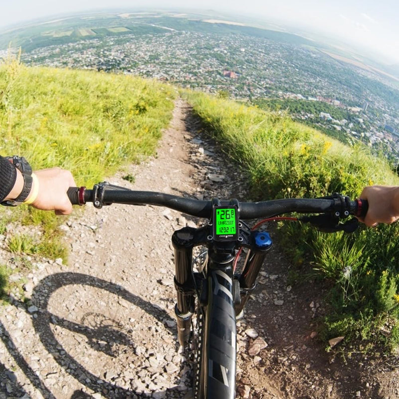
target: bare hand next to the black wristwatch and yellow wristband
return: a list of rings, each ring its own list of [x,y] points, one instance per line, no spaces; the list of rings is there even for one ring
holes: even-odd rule
[[[37,198],[31,205],[37,209],[54,210],[57,215],[71,213],[72,204],[66,192],[69,187],[76,186],[72,174],[60,168],[43,169],[33,173],[37,177],[39,190]],[[32,187],[31,194],[33,192],[34,188]],[[27,201],[29,201],[29,197]]]

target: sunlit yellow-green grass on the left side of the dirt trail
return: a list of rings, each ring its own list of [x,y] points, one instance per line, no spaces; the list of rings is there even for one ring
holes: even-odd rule
[[[0,64],[0,154],[24,156],[33,170],[68,169],[78,186],[90,187],[155,152],[175,97],[174,88],[156,81],[30,68],[8,58]],[[19,219],[43,231],[34,244],[6,232],[11,251],[65,259],[58,232],[63,218],[27,206],[1,208],[1,226]]]

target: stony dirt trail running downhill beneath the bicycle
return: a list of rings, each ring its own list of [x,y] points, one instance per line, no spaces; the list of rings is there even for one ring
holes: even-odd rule
[[[134,184],[122,179],[128,174]],[[109,181],[245,199],[245,176],[201,135],[182,100],[157,156]],[[155,206],[76,211],[62,226],[68,265],[35,261],[25,284],[30,303],[14,298],[0,309],[0,399],[191,398],[190,368],[176,344],[170,241],[185,225],[195,223]],[[268,259],[238,322],[237,397],[399,398],[398,372],[384,360],[343,365],[325,352],[315,337],[322,289],[288,286],[290,265],[277,246]],[[267,344],[258,351],[256,336]]]

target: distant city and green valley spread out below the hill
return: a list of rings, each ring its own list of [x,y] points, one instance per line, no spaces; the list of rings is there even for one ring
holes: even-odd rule
[[[245,100],[399,162],[399,67],[314,36],[236,15],[96,12],[0,35],[27,65],[95,69],[170,81]]]

